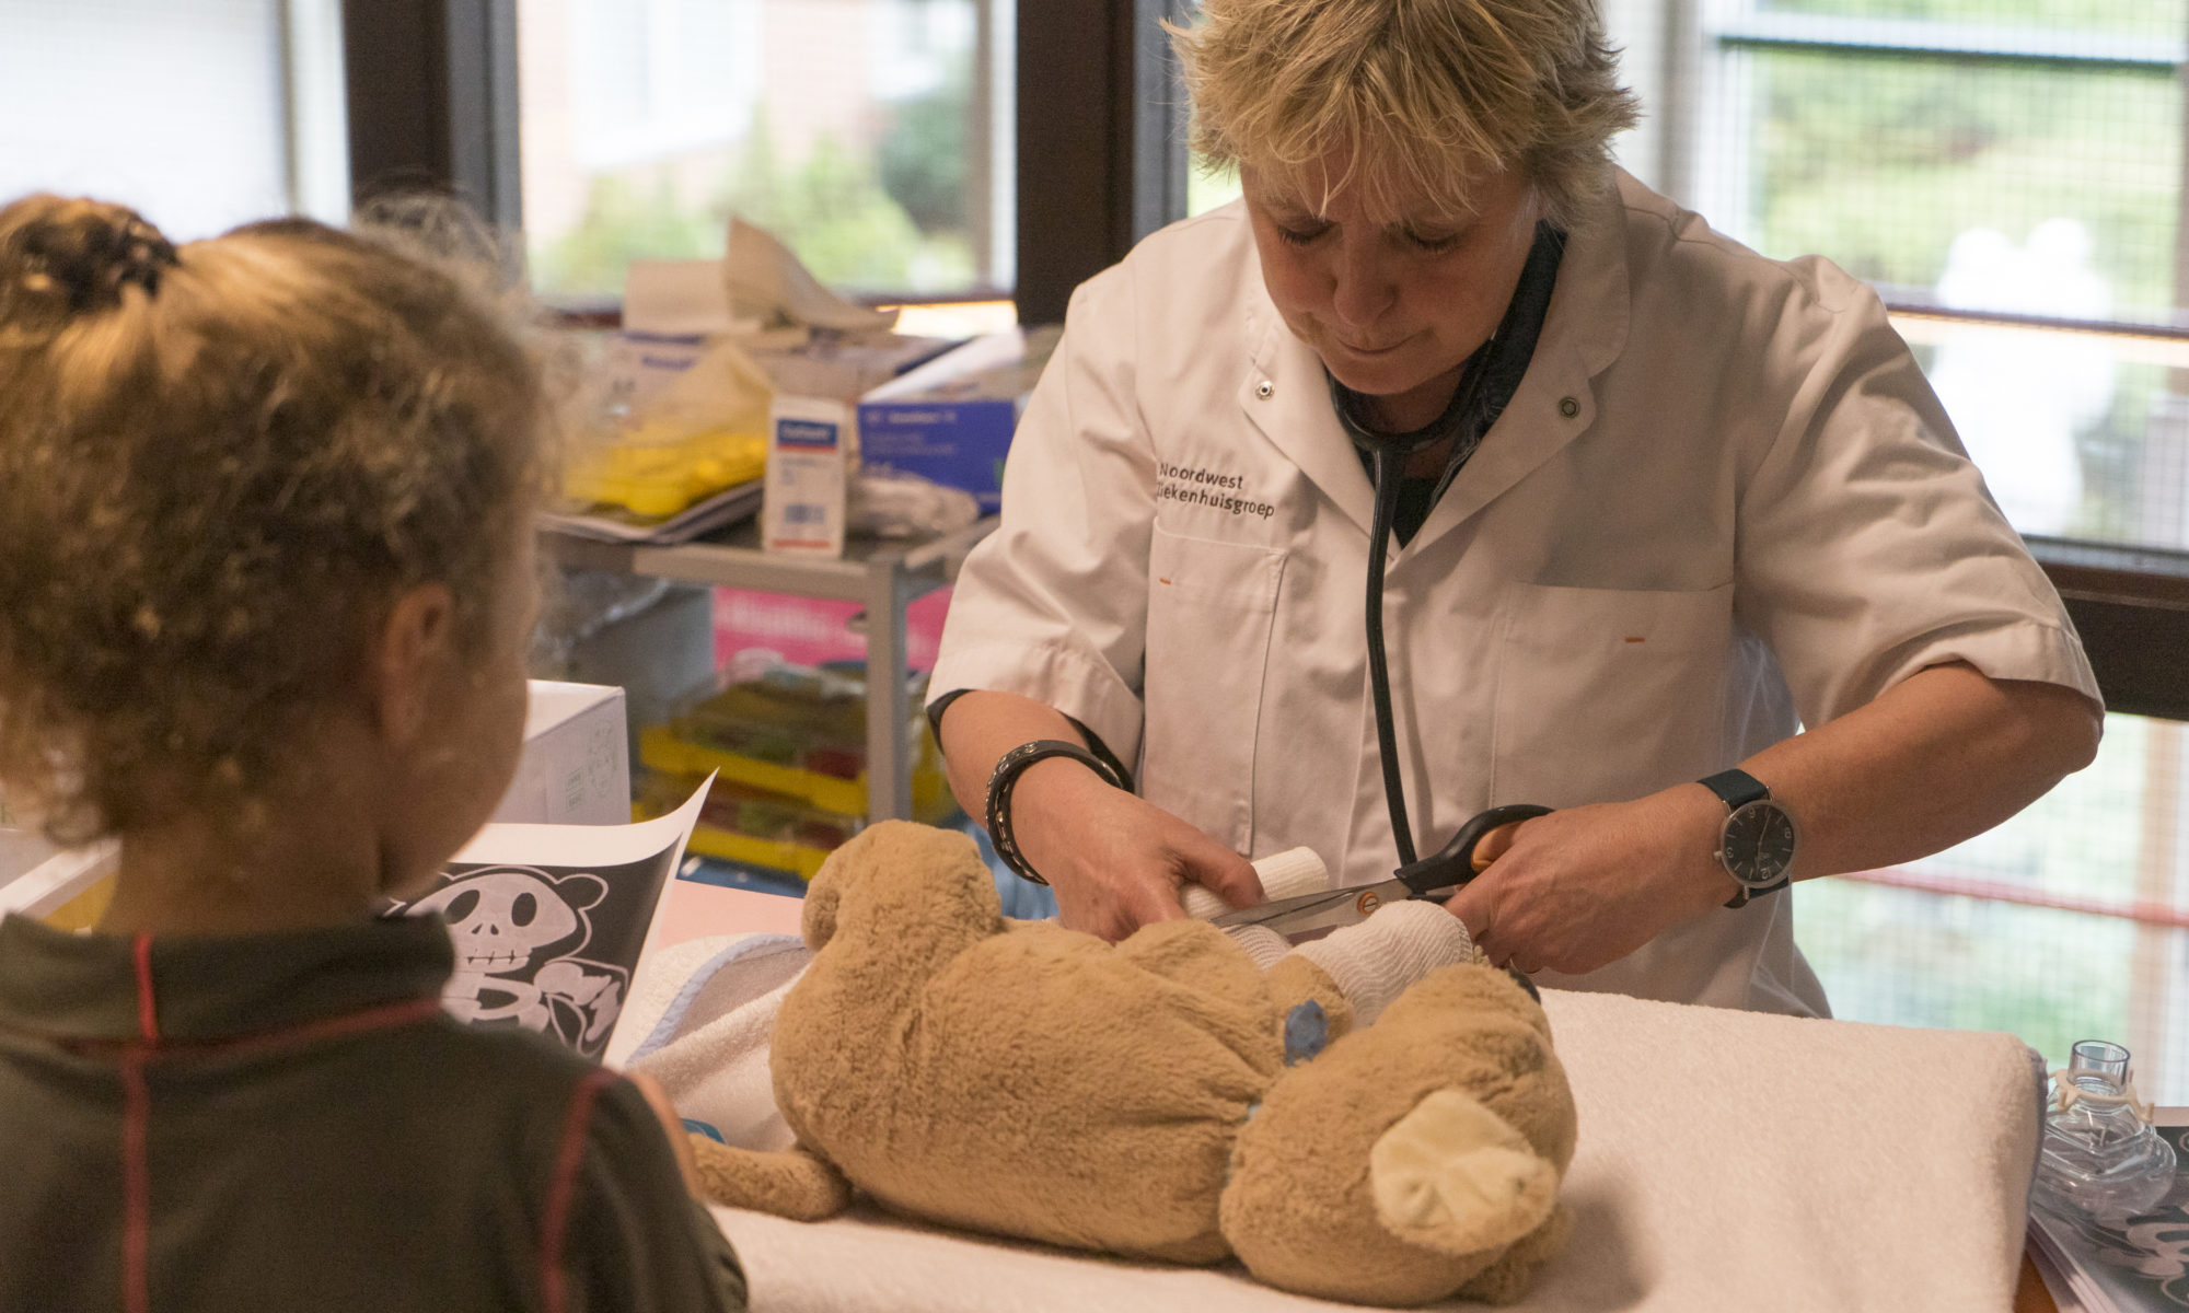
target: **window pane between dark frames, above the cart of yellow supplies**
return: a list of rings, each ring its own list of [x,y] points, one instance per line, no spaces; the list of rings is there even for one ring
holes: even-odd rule
[[[519,0],[549,295],[718,256],[729,214],[845,291],[1011,284],[1011,0]]]

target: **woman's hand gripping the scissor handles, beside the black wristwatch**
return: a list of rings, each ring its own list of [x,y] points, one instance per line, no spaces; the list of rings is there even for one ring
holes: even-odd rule
[[[1491,867],[1445,910],[1495,965],[1594,972],[1738,891],[1712,856],[1723,818],[1699,783],[1550,812],[1484,838]]]

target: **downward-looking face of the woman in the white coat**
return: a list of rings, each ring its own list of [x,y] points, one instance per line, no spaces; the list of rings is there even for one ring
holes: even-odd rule
[[[1342,155],[1320,169],[1346,175]],[[1292,195],[1252,169],[1241,184],[1263,282],[1292,333],[1340,383],[1379,398],[1383,427],[1416,429],[1443,414],[1460,365],[1497,330],[1519,284],[1534,190],[1499,171],[1482,177],[1473,214],[1403,199],[1383,214],[1351,184],[1327,199],[1324,188]]]

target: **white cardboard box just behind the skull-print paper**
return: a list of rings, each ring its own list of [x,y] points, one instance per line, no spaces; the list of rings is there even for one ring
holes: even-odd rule
[[[630,825],[624,689],[532,681],[525,751],[495,821]]]

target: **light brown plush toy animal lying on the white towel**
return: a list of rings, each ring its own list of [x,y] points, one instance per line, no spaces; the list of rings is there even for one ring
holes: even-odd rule
[[[797,1142],[694,1136],[716,1204],[816,1221],[858,1193],[1390,1306],[1517,1300],[1565,1241],[1550,1024],[1434,904],[1298,950],[1204,919],[1112,945],[1007,921],[972,838],[884,821],[814,875],[801,932],[768,1057]]]

